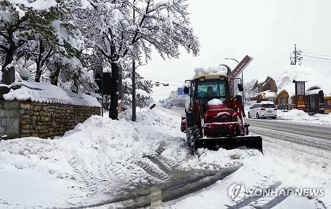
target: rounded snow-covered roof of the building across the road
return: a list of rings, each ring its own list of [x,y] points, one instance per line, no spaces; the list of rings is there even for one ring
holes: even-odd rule
[[[293,80],[307,81],[305,82],[306,90],[320,88],[324,93],[331,93],[331,85],[329,84],[331,77],[327,77],[327,75],[321,74],[317,70],[298,65],[290,65],[277,71],[271,71],[267,76],[258,78],[256,84],[265,84],[270,78],[272,78],[277,85],[277,95],[283,91],[287,91],[290,97],[293,96],[295,94]],[[256,85],[254,86],[256,87]]]

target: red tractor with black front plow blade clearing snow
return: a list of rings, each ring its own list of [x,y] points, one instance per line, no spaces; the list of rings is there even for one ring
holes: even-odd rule
[[[225,66],[225,65],[224,65]],[[227,71],[230,69],[227,68]],[[240,78],[231,79],[227,72],[197,73],[186,80],[184,93],[189,93],[181,130],[186,132],[192,154],[198,148],[217,150],[247,147],[263,152],[261,136],[249,135],[241,95],[233,95],[234,80],[243,91]]]

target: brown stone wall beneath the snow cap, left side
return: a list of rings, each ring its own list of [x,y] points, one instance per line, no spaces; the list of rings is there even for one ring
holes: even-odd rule
[[[92,115],[100,115],[100,108],[67,104],[2,100],[0,134],[9,138],[62,136]]]

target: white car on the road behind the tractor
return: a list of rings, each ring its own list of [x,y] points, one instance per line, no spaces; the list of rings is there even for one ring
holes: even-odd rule
[[[272,101],[262,101],[261,103],[256,103],[247,114],[248,118],[277,118],[277,108]]]

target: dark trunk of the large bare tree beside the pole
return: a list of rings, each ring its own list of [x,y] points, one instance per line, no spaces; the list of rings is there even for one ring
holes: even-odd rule
[[[110,79],[110,106],[109,106],[109,118],[113,120],[118,119],[117,113],[117,102],[118,102],[118,85],[119,85],[119,73],[120,73],[120,66],[112,62],[112,77]]]

